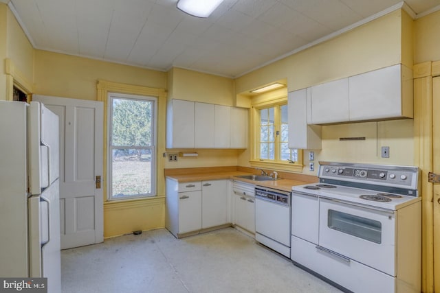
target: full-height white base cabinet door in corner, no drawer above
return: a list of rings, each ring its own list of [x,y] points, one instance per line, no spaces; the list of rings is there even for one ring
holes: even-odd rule
[[[228,213],[229,180],[212,180],[201,183],[201,227],[226,224]]]

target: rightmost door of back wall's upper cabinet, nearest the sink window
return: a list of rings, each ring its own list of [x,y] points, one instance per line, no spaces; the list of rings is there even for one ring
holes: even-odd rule
[[[231,108],[230,148],[248,148],[248,109]]]

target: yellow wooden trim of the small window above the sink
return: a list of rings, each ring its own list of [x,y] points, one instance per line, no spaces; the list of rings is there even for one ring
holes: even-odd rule
[[[295,163],[287,163],[283,161],[272,161],[272,160],[260,160],[259,159],[259,110],[261,108],[267,108],[271,106],[282,106],[287,104],[287,95],[283,97],[278,97],[276,99],[270,99],[265,102],[259,102],[252,104],[250,109],[250,121],[251,121],[251,143],[252,147],[250,148],[250,165],[252,167],[260,167],[267,169],[276,169],[280,171],[289,171],[289,172],[303,172],[303,150],[298,149],[298,161]],[[279,145],[275,146],[279,148]]]

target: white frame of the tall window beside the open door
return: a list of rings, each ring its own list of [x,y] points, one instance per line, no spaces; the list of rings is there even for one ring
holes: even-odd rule
[[[142,194],[142,195],[132,195],[132,196],[124,196],[122,198],[114,198],[111,194],[112,194],[112,188],[111,188],[111,184],[112,184],[112,163],[111,163],[111,158],[112,158],[112,150],[113,147],[111,145],[111,123],[112,123],[112,119],[113,119],[113,111],[112,111],[112,101],[113,98],[119,98],[119,99],[134,99],[134,100],[146,100],[146,101],[152,101],[153,102],[153,119],[152,119],[152,123],[153,123],[153,141],[152,141],[152,145],[151,147],[141,147],[142,149],[151,149],[151,194]],[[151,198],[154,196],[157,196],[157,132],[158,132],[158,128],[157,128],[157,104],[158,104],[158,99],[157,97],[153,97],[153,96],[147,96],[147,95],[134,95],[134,94],[123,94],[123,93],[113,93],[111,91],[109,91],[107,93],[107,190],[109,192],[107,192],[107,200],[108,201],[120,201],[120,200],[131,200],[131,199],[141,199],[141,198]],[[120,146],[118,148],[133,148],[133,149],[137,149],[140,148],[138,146]]]

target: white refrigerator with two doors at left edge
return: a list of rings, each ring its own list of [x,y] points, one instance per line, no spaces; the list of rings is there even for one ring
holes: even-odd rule
[[[0,276],[47,277],[61,292],[58,116],[0,101]]]

